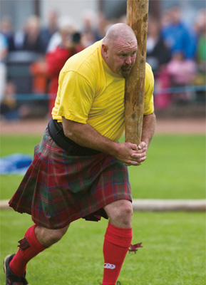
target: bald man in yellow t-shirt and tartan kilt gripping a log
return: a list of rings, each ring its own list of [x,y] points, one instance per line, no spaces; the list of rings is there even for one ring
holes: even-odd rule
[[[132,239],[127,166],[145,161],[155,128],[153,73],[147,66],[143,141],[118,143],[124,130],[124,78],[137,49],[133,30],[115,24],[103,41],[69,58],[61,70],[53,118],[9,202],[16,211],[31,214],[35,224],[18,252],[4,259],[6,284],[27,284],[28,261],[58,242],[81,217],[109,218],[102,284],[117,281]]]

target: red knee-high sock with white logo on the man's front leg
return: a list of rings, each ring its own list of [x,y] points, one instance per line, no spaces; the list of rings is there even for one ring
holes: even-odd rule
[[[108,224],[103,244],[104,272],[102,285],[115,285],[133,237],[132,228]]]

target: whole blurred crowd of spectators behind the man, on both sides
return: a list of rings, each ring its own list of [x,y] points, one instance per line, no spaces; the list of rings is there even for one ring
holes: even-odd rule
[[[58,89],[58,74],[66,60],[101,40],[111,24],[126,22],[126,17],[108,21],[103,13],[84,11],[82,27],[71,17],[48,13],[43,26],[38,16],[26,19],[14,33],[11,19],[0,23],[0,102],[4,118],[34,115],[35,103],[16,100],[16,94],[38,95],[36,105],[51,114]],[[206,11],[201,9],[190,26],[182,21],[181,10],[163,11],[160,19],[149,16],[147,62],[155,75],[155,88],[205,85]],[[41,100],[41,95],[46,100]],[[39,97],[40,96],[40,97]],[[173,100],[187,101],[187,93],[155,94],[155,107],[167,108]],[[32,108],[31,108],[32,107]],[[35,110],[36,112],[36,110]]]

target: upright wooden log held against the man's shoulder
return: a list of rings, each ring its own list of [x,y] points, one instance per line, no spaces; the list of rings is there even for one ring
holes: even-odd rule
[[[133,69],[125,78],[125,142],[137,145],[143,128],[148,6],[148,0],[127,0],[127,24],[135,32],[138,52]]]

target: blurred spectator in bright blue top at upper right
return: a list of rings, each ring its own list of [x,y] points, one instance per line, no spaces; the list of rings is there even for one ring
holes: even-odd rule
[[[184,58],[195,58],[197,38],[194,31],[185,26],[181,21],[180,8],[175,6],[169,11],[169,22],[162,28],[162,36],[170,47],[171,54],[183,53]]]

